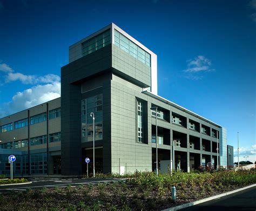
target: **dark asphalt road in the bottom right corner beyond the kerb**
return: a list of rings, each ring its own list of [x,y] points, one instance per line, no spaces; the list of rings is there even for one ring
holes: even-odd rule
[[[221,198],[200,203],[192,207],[180,209],[186,211],[228,211],[228,210],[256,210],[256,187],[248,188]]]

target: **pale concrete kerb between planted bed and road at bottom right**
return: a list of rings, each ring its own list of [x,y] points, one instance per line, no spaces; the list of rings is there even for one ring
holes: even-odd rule
[[[246,186],[246,187],[243,187],[243,188],[232,190],[230,192],[222,193],[222,194],[219,194],[219,195],[214,195],[214,196],[211,196],[211,197],[208,197],[208,198],[205,198],[205,199],[200,199],[198,201],[184,203],[184,205],[179,205],[179,206],[176,206],[176,207],[171,207],[171,208],[163,209],[162,211],[172,211],[172,210],[179,210],[179,209],[191,207],[191,206],[194,206],[194,205],[198,205],[199,203],[204,203],[206,201],[211,201],[213,199],[217,199],[217,198],[220,198],[220,197],[223,197],[223,196],[226,196],[226,195],[237,193],[237,192],[239,192],[241,190],[245,190],[245,189],[252,188],[252,187],[255,187],[255,186],[256,186],[256,184],[253,184],[253,185],[250,185],[250,186]]]

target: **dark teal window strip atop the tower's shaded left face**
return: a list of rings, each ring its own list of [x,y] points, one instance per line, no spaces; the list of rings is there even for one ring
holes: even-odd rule
[[[106,30],[99,35],[86,40],[82,44],[83,56],[89,55],[90,53],[97,51],[108,44],[110,44],[110,30]]]

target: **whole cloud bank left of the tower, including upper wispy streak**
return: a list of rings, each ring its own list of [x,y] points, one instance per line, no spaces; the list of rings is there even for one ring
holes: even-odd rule
[[[0,71],[4,73],[4,85],[12,81],[33,84],[30,89],[17,92],[11,101],[0,103],[0,118],[60,97],[60,77],[55,74],[46,74],[45,76],[26,75],[15,72],[5,63],[0,64]]]

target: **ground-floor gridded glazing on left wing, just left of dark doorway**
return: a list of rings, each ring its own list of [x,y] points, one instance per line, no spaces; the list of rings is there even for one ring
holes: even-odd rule
[[[30,155],[31,174],[47,173],[47,154],[36,153]]]

